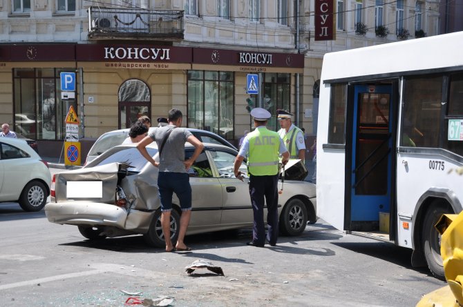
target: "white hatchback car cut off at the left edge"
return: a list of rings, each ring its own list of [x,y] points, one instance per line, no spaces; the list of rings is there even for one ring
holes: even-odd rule
[[[19,202],[25,211],[44,208],[51,175],[46,161],[23,139],[0,137],[0,202]]]

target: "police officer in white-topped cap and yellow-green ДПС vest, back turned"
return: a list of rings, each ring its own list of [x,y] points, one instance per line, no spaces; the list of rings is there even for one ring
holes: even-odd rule
[[[251,116],[254,117],[256,129],[245,137],[234,162],[235,177],[243,181],[239,168],[243,159],[247,157],[249,195],[254,212],[252,241],[247,245],[263,247],[267,239],[270,246],[275,246],[278,238],[278,155],[282,155],[281,162],[287,164],[290,153],[278,133],[265,127],[271,117],[270,112],[263,108],[254,108]],[[265,204],[267,236],[264,224]]]

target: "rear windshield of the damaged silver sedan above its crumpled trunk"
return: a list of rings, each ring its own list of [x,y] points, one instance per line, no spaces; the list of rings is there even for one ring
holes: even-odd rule
[[[149,155],[153,157],[157,152],[157,148],[147,148]],[[147,159],[144,159],[140,151],[135,147],[128,147],[122,150],[114,152],[109,157],[106,157],[99,161],[96,165],[92,166],[102,166],[105,164],[110,164],[113,162],[119,162],[123,164],[128,164],[132,166],[129,168],[129,172],[140,172],[145,164],[149,163]]]

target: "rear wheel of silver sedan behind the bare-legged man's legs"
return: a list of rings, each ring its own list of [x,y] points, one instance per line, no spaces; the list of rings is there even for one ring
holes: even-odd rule
[[[180,215],[176,210],[171,211],[171,241],[175,245],[178,238],[178,230],[180,228]],[[149,230],[143,235],[144,240],[150,246],[164,247],[166,241],[164,239],[164,233],[162,232],[161,226],[161,210],[156,210],[151,219]]]

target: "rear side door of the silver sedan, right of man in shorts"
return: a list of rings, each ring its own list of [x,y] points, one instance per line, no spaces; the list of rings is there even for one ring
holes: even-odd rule
[[[185,150],[185,159],[193,155],[193,148]],[[223,196],[218,178],[212,175],[211,165],[203,151],[188,170],[192,209],[189,232],[220,224]]]

